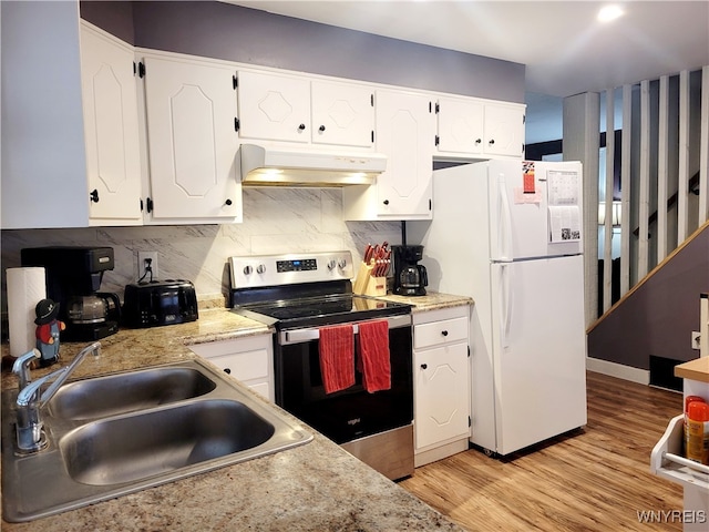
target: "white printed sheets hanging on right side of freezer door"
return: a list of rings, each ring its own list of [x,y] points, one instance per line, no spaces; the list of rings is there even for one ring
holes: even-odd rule
[[[547,207],[549,242],[580,239],[580,208],[578,205],[580,176],[573,170],[547,172]]]

